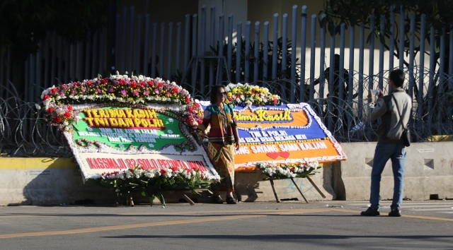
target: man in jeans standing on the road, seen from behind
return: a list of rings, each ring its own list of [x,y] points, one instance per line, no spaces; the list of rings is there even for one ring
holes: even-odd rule
[[[379,136],[374,151],[373,169],[371,172],[371,206],[361,215],[377,216],[379,213],[379,191],[381,174],[386,162],[391,160],[394,172],[394,196],[389,216],[399,217],[401,202],[403,201],[403,174],[406,160],[406,148],[403,143],[403,130],[406,128],[411,115],[412,100],[402,86],[404,72],[396,69],[390,72],[390,93],[384,96],[382,90],[369,90],[367,114],[369,119],[381,118],[377,134]],[[372,95],[377,96],[374,100]]]

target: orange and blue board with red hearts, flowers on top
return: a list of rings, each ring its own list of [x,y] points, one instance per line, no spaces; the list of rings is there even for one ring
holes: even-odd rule
[[[225,91],[226,103],[234,105],[241,140],[236,171],[346,160],[340,143],[310,105],[282,104],[267,88],[247,83],[226,85]],[[209,102],[200,104],[205,109]]]

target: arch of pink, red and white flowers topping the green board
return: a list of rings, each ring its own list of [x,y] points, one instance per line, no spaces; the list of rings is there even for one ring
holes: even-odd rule
[[[110,78],[94,78],[81,82],[62,84],[47,88],[41,94],[45,119],[59,130],[70,131],[71,123],[77,121],[79,112],[74,112],[71,105],[90,103],[125,103],[147,105],[161,103],[181,105],[182,121],[202,119],[202,109],[187,90],[176,83],[160,78],[144,76],[113,75]],[[37,105],[37,109],[41,107]]]

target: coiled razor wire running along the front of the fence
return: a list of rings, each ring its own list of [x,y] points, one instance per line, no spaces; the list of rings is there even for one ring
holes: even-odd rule
[[[421,85],[418,77],[420,70],[423,76]],[[417,68],[411,72],[413,77],[408,76],[409,71],[406,72],[406,83],[403,88],[408,91],[409,85],[417,86],[412,91],[413,108],[409,121],[413,141],[423,142],[430,136],[452,134],[453,77],[437,76],[423,68]],[[307,79],[302,88],[300,83],[292,79],[259,81],[250,84],[269,88],[271,93],[280,95],[284,103],[290,103],[292,100],[294,103],[301,101],[309,103],[340,142],[371,142],[377,141],[380,120],[370,121],[367,117],[367,94],[369,89],[379,88],[379,84],[382,84],[384,95],[388,94],[388,76],[389,71],[374,76],[360,75],[355,71],[352,73],[352,85],[349,80],[345,82],[343,95],[340,93],[340,88],[335,85],[329,86],[327,80],[315,84],[316,79]],[[434,77],[430,78],[430,76]],[[334,78],[338,78],[338,81],[342,80],[338,73]],[[224,82],[224,85],[227,84],[228,82]],[[320,86],[323,89],[320,90]],[[420,86],[421,90],[418,89]],[[200,88],[195,84],[194,89],[191,84],[184,83],[183,88],[193,91],[193,97],[199,100],[209,100],[210,86]],[[35,88],[33,91],[36,91]],[[67,147],[62,133],[55,127],[48,126],[42,119],[42,109],[38,110],[35,107],[38,100],[23,100],[22,95],[16,92],[11,83],[8,86],[0,86],[0,93],[2,93],[0,96],[0,156],[71,156],[71,150]]]

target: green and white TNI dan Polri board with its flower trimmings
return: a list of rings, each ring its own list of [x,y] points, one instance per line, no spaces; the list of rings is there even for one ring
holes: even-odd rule
[[[110,76],[48,88],[45,119],[63,131],[84,179],[164,203],[161,191],[207,188],[219,175],[188,119],[202,110],[176,83]],[[38,107],[40,108],[40,107]],[[132,205],[132,204],[131,204]]]

